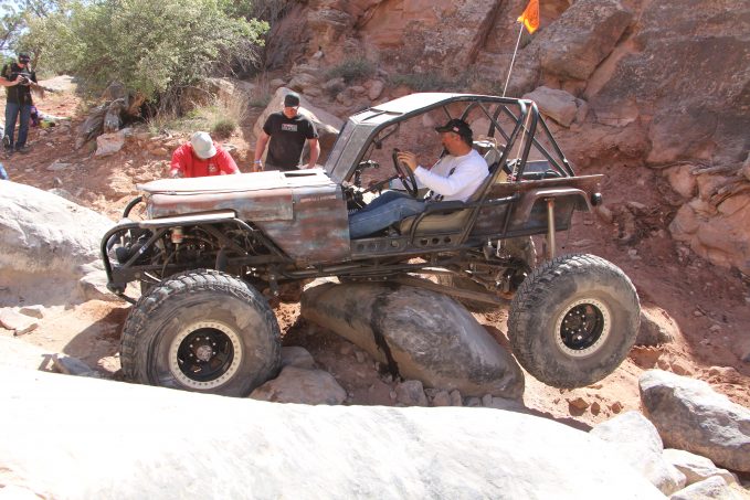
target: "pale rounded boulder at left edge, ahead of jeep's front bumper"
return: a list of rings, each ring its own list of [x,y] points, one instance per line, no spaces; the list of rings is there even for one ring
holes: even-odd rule
[[[0,268],[25,304],[104,298],[99,241],[108,219],[57,195],[0,183]],[[83,281],[88,283],[85,285]],[[94,294],[94,295],[92,295]],[[18,298],[15,298],[18,300]],[[0,306],[14,304],[0,296]]]

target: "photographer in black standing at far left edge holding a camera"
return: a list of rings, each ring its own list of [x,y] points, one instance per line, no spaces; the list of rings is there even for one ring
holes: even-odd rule
[[[31,88],[36,87],[36,74],[29,67],[29,54],[20,53],[15,63],[6,64],[0,72],[0,85],[7,88],[6,102],[6,136],[2,143],[6,152],[11,155],[13,150],[21,153],[29,152],[27,137],[29,135],[29,119],[31,117]],[[15,120],[19,119],[18,139],[15,135]]]

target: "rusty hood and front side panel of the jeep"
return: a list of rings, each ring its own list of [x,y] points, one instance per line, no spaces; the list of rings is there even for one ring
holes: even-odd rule
[[[346,201],[321,169],[159,180],[139,189],[154,219],[233,210],[299,264],[349,257]]]

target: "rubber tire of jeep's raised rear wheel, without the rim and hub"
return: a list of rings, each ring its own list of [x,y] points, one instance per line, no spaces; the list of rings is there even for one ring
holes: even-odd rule
[[[554,345],[552,336],[557,332],[551,331],[553,328],[543,332],[529,331],[535,320],[552,321],[551,318],[539,318],[551,315],[549,307],[553,306],[552,302],[569,298],[561,295],[560,287],[556,286],[561,279],[604,281],[616,285],[619,290],[620,304],[609,304],[615,309],[612,311],[614,318],[610,338],[587,364],[603,359],[599,360],[596,366],[587,366],[588,370],[570,371],[561,366],[570,359],[564,359],[564,354]],[[619,267],[595,255],[563,255],[540,265],[524,280],[510,304],[508,337],[518,362],[537,380],[554,387],[574,389],[603,379],[622,363],[635,343],[640,318],[641,306],[635,287]],[[547,336],[543,339],[545,348],[549,348],[547,352],[540,352],[538,336]],[[561,358],[558,360],[554,357]]]

